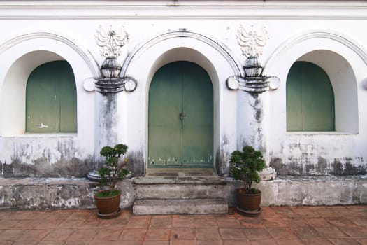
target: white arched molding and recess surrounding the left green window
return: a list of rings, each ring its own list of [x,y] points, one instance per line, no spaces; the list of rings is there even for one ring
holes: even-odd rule
[[[0,135],[24,136],[25,89],[31,71],[37,66],[55,60],[66,60],[71,65],[77,89],[78,134],[85,148],[93,148],[94,94],[83,89],[86,78],[99,74],[93,57],[83,45],[51,31],[20,34],[0,45]],[[9,106],[11,105],[11,106]],[[87,126],[83,121],[88,122]],[[36,134],[27,137],[36,137]],[[56,134],[54,137],[59,137]],[[50,134],[38,137],[52,137]]]

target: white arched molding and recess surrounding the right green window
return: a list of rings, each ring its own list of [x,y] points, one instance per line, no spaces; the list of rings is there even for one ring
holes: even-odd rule
[[[271,134],[282,138],[286,133],[285,83],[292,64],[312,62],[328,74],[333,86],[336,109],[336,134],[359,132],[358,84],[365,74],[367,52],[357,42],[335,31],[310,30],[282,43],[266,62],[264,73],[278,76],[280,89],[269,94],[271,101]],[[366,69],[366,68],[364,68]],[[322,134],[317,132],[315,134]]]

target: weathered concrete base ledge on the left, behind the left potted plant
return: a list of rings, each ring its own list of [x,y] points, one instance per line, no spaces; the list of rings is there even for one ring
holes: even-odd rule
[[[131,207],[131,180],[117,184],[122,190],[120,207]],[[0,179],[0,209],[94,209],[98,183],[85,178]]]

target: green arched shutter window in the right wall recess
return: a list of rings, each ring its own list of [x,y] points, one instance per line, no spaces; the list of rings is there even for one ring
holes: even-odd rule
[[[287,76],[287,131],[335,131],[329,76],[310,62],[295,62]]]

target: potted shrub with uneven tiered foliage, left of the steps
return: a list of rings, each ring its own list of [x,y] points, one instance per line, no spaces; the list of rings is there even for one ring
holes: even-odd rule
[[[101,156],[106,157],[105,166],[98,169],[101,179],[100,186],[108,186],[107,190],[101,190],[94,195],[98,216],[100,218],[114,218],[120,214],[121,191],[116,189],[118,181],[122,181],[129,170],[127,169],[127,158],[120,157],[127,153],[127,146],[117,144],[114,147],[104,146]]]

